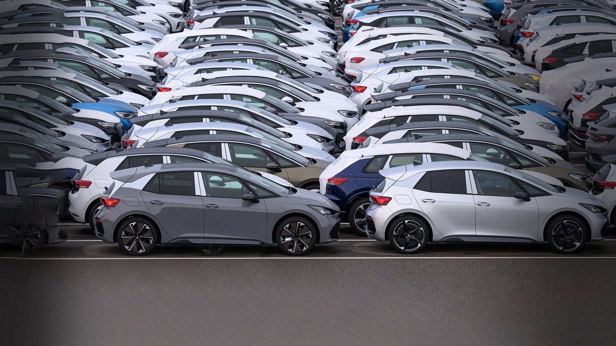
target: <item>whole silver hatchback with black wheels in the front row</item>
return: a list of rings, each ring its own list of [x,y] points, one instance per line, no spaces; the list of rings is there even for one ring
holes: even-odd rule
[[[370,192],[365,230],[400,253],[428,242],[548,242],[570,254],[607,237],[607,207],[591,194],[496,163],[433,162],[380,173],[385,179]]]

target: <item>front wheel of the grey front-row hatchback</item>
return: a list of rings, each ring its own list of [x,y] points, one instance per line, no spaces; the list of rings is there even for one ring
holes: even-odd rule
[[[312,222],[299,216],[284,219],[275,231],[278,248],[290,256],[307,254],[317,242]]]

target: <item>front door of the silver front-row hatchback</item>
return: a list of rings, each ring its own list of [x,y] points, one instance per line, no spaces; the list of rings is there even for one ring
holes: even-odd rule
[[[472,184],[477,236],[537,240],[539,208],[535,197],[516,199],[514,195],[522,187],[503,173],[473,170]]]

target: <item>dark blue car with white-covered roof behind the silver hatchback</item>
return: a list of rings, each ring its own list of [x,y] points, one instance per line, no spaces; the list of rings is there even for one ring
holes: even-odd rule
[[[368,192],[381,183],[379,170],[423,162],[484,160],[464,149],[440,143],[381,144],[344,151],[319,178],[321,193],[340,208],[340,219],[365,234]],[[402,197],[400,197],[402,198]]]

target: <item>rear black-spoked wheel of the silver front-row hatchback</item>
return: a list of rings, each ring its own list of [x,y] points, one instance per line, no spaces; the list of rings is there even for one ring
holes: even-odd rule
[[[429,232],[430,229],[425,221],[411,215],[394,219],[387,229],[392,248],[403,254],[421,251],[428,243]]]

